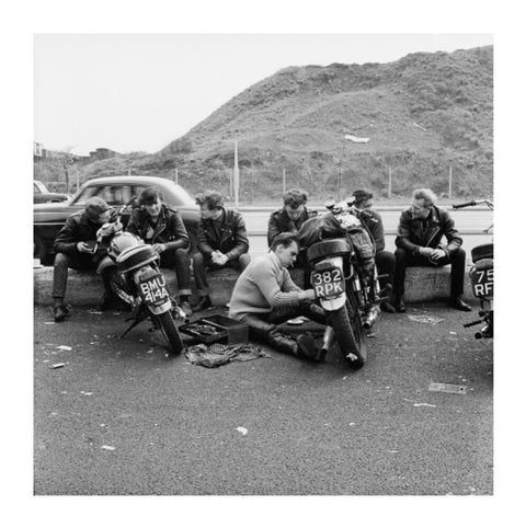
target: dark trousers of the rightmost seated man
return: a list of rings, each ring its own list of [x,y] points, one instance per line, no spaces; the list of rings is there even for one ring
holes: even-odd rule
[[[395,252],[395,284],[393,294],[396,297],[402,297],[404,292],[405,268],[411,266],[437,267],[451,265],[451,297],[458,297],[464,294],[464,274],[466,271],[466,252],[459,248],[451,252],[449,256],[444,256],[436,261],[436,265],[431,263],[426,256],[419,253],[411,254],[398,248]]]

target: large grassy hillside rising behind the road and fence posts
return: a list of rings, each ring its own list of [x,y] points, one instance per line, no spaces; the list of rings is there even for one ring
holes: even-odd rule
[[[368,138],[353,142],[345,135]],[[387,195],[416,185],[485,196],[493,181],[493,47],[412,54],[390,64],[290,67],[248,88],[156,154],[92,163],[81,180],[134,172],[195,193],[229,193],[238,140],[243,202],[302,186],[313,199],[359,186]]]

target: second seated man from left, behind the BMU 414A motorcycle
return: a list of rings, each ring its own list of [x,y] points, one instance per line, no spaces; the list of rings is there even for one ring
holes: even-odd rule
[[[157,187],[145,188],[126,231],[137,234],[160,254],[160,266],[173,268],[178,279],[180,306],[186,315],[190,307],[190,239],[179,211],[162,203]]]

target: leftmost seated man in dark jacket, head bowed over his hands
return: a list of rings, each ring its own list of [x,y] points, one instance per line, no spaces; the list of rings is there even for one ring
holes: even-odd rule
[[[99,263],[106,255],[106,251],[96,251],[96,231],[101,226],[112,220],[116,215],[102,198],[90,198],[84,210],[73,213],[57,234],[53,249],[55,262],[53,266],[53,299],[55,321],[60,322],[69,315],[64,302],[68,284],[68,268],[81,272],[96,271]],[[110,303],[114,296],[110,288],[107,274],[102,274],[104,283],[103,307]]]

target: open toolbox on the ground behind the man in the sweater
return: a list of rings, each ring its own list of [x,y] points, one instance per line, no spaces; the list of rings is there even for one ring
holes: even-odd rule
[[[233,345],[249,342],[249,326],[226,315],[204,317],[179,326],[179,330],[205,344]]]

